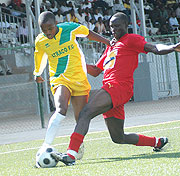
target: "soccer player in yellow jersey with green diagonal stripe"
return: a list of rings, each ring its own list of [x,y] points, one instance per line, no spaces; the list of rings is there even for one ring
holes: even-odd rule
[[[48,59],[56,111],[49,120],[44,145],[51,145],[60,122],[66,116],[69,100],[71,99],[76,121],[88,101],[91,87],[86,77],[84,55],[76,37],[87,37],[106,45],[110,41],[78,23],[65,22],[56,25],[54,14],[49,11],[41,13],[38,22],[42,33],[35,41],[34,76],[37,83],[44,81],[41,74]]]

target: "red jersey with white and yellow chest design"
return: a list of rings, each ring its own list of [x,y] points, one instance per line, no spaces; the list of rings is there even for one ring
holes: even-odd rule
[[[139,53],[146,53],[144,37],[125,34],[114,46],[107,46],[96,66],[104,70],[103,84],[110,82],[130,83],[133,86],[133,73],[138,66]]]

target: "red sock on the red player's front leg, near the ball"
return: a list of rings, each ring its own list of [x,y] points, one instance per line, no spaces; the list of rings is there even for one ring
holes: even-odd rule
[[[78,153],[79,147],[80,147],[80,145],[82,144],[83,139],[84,139],[84,136],[83,136],[83,135],[74,132],[74,133],[71,135],[71,140],[70,140],[70,143],[69,143],[68,150],[74,150],[75,152]],[[75,159],[75,157],[74,157],[73,155],[71,155],[71,154],[69,154],[69,153],[68,153],[68,155],[69,155],[72,159]]]

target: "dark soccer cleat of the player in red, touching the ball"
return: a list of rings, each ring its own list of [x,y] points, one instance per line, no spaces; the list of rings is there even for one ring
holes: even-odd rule
[[[66,153],[54,152],[54,153],[51,153],[51,157],[54,158],[57,162],[58,161],[63,162],[66,166],[72,166],[75,164],[75,159],[72,159]]]

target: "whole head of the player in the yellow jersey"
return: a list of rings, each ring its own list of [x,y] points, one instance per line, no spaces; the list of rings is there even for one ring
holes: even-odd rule
[[[52,12],[42,12],[39,15],[38,23],[42,32],[48,39],[52,39],[56,35],[58,28],[56,26],[55,16]]]

